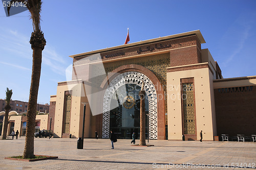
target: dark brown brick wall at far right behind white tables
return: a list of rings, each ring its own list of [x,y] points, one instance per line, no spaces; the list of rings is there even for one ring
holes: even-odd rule
[[[251,91],[235,92],[230,88],[214,89],[218,136],[256,134],[256,86],[250,87]]]

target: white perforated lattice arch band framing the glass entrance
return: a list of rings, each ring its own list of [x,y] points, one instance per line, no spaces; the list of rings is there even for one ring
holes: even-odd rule
[[[127,71],[116,76],[105,90],[103,98],[103,116],[102,116],[102,138],[109,138],[110,131],[110,110],[111,99],[115,95],[116,89],[124,84],[136,84],[142,86],[144,82],[144,89],[148,99],[149,112],[149,127],[150,139],[157,139],[157,93],[152,81],[137,71]]]

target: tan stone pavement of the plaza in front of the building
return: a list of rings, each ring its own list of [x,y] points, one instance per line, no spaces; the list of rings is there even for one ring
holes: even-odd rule
[[[2,138],[2,137],[1,137]],[[132,139],[35,138],[35,154],[58,159],[25,162],[4,159],[22,155],[25,137],[0,140],[0,169],[247,169],[256,167],[256,142],[150,140],[154,147],[133,147]],[[139,140],[136,140],[138,144]],[[236,168],[237,166],[237,168]],[[240,167],[238,167],[240,166]],[[243,168],[246,166],[247,168]],[[251,168],[248,168],[251,169]]]

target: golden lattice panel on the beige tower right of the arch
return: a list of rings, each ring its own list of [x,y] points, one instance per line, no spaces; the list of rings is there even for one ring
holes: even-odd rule
[[[182,98],[184,134],[196,134],[193,83],[182,83]]]

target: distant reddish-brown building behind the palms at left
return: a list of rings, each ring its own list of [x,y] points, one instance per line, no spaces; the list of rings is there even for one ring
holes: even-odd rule
[[[0,99],[0,112],[5,111],[5,100]],[[28,102],[22,101],[12,101],[10,102],[11,110],[16,111],[17,113],[27,112],[28,111]],[[45,105],[37,104],[36,110],[39,112],[49,113],[50,105],[47,103]]]

